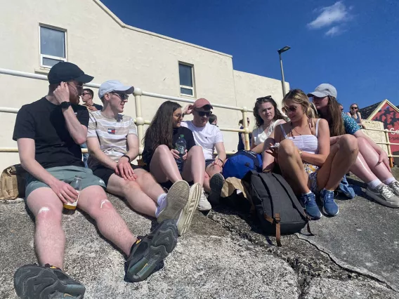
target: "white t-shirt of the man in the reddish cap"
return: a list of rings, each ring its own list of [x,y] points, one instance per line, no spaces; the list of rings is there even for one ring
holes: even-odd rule
[[[185,126],[192,131],[196,145],[200,145],[204,152],[204,158],[214,159],[215,144],[223,142],[223,134],[217,126],[207,123],[203,127],[197,127],[192,121],[182,121],[181,126]]]

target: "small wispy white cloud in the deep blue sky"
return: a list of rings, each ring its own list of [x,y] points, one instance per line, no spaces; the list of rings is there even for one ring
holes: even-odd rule
[[[351,10],[351,8],[352,7],[346,8],[345,4],[342,1],[338,1],[332,6],[322,7],[318,10],[321,12],[320,15],[318,15],[318,18],[315,18],[315,20],[308,23],[308,27],[310,29],[319,29],[337,22],[346,22],[351,19],[351,14],[349,13],[349,10]],[[334,29],[334,27],[332,27],[331,29],[329,29],[328,32],[334,32],[335,30],[337,29]]]

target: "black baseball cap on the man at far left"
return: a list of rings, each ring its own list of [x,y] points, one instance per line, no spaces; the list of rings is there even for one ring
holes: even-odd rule
[[[71,62],[60,61],[56,65],[51,67],[50,72],[47,75],[48,83],[57,84],[60,82],[67,82],[76,80],[81,83],[88,83],[94,79],[79,69],[77,65]]]

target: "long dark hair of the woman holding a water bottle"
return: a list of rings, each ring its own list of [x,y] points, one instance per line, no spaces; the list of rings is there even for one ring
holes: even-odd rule
[[[144,144],[152,140],[152,144],[149,145],[151,150],[156,150],[159,145],[173,148],[173,114],[178,108],[181,108],[181,105],[170,100],[159,106],[144,136]]]

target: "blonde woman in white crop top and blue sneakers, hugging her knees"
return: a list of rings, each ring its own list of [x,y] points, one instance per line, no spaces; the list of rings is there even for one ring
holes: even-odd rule
[[[334,216],[339,212],[334,190],[355,162],[358,142],[348,135],[330,152],[328,123],[325,119],[315,119],[308,97],[299,89],[289,91],[282,105],[291,121],[275,128],[276,143],[272,142],[263,154],[263,169],[268,172],[277,161],[294,192],[301,193],[310,218],[321,217],[315,201],[319,192],[323,211]],[[279,145],[275,147],[277,142]]]

